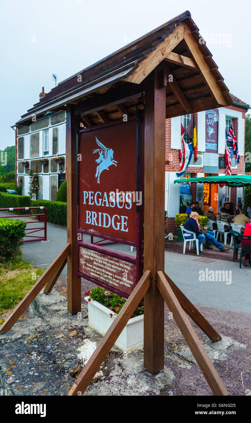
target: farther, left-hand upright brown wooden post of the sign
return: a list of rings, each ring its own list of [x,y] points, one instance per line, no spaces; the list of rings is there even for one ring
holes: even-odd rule
[[[76,276],[76,124],[70,107],[66,111],[66,165],[67,165],[67,242],[71,244],[71,254],[67,258],[67,301],[68,311],[76,314],[81,311],[81,277]]]

